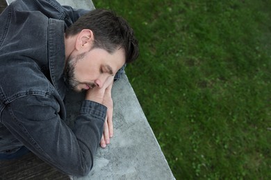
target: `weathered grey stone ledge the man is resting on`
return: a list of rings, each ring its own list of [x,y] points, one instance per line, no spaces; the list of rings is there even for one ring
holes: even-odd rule
[[[10,3],[13,0],[7,0]],[[90,0],[58,0],[74,8],[94,8]],[[71,179],[174,179],[165,156],[140,107],[126,74],[113,85],[114,136],[106,149],[99,147],[95,165],[86,177]],[[67,119],[79,112],[82,93],[67,93]],[[70,121],[72,126],[74,122]],[[68,157],[67,157],[68,158]]]

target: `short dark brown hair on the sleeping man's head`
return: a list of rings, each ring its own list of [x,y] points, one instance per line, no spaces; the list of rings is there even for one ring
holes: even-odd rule
[[[138,58],[138,40],[133,29],[122,17],[117,17],[110,10],[97,9],[79,17],[65,31],[67,37],[80,33],[83,29],[90,29],[94,34],[95,42],[92,48],[103,48],[108,53],[118,48],[125,51],[126,62],[133,62]]]

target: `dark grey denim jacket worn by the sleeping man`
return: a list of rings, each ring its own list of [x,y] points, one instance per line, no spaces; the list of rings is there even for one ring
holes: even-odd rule
[[[84,100],[70,129],[63,102],[64,30],[86,12],[56,1],[17,0],[1,13],[0,153],[24,145],[66,174],[90,172],[106,107]]]

